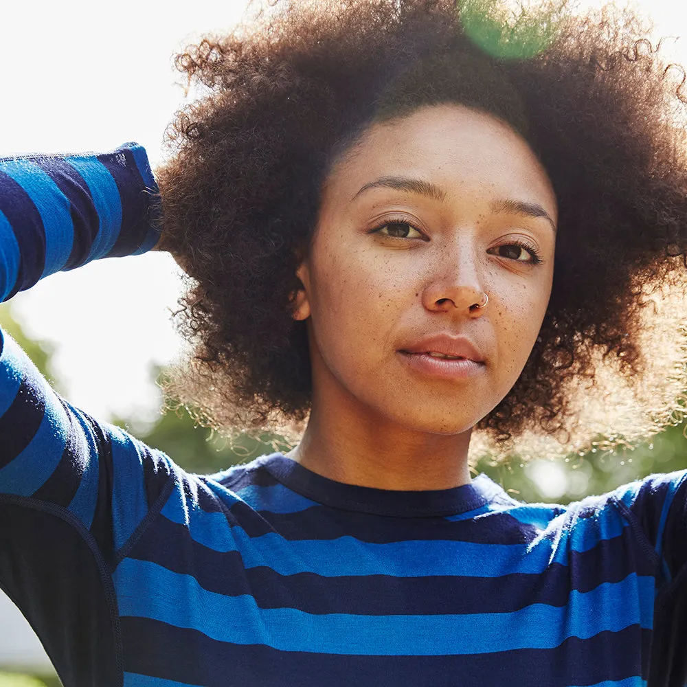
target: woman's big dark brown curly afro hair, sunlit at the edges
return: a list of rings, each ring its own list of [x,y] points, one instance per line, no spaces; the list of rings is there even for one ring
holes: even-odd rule
[[[168,391],[205,423],[307,417],[305,324],[289,304],[324,179],[372,122],[446,102],[523,135],[559,202],[541,333],[482,437],[561,452],[679,420],[682,311],[665,296],[687,264],[684,72],[627,11],[543,0],[499,16],[493,0],[283,1],[177,56],[201,96],[157,170],[163,245],[189,276],[177,316],[192,359]]]

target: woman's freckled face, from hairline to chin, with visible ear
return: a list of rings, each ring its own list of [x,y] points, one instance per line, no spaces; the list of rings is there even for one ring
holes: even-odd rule
[[[442,104],[372,125],[330,172],[298,271],[313,408],[473,427],[537,338],[555,223],[545,170],[495,117]]]

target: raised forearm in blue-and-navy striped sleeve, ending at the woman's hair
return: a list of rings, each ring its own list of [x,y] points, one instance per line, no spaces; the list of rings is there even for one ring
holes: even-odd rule
[[[146,151],[0,158],[0,300],[60,270],[139,254],[159,239]]]

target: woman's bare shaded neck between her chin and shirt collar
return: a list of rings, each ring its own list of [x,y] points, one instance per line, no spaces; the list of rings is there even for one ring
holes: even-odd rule
[[[288,454],[307,469],[337,482],[399,491],[469,484],[470,430],[451,436],[416,431],[347,404],[327,411],[313,402],[302,441]]]

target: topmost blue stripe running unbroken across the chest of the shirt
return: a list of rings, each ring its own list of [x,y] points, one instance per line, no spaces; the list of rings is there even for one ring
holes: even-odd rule
[[[269,565],[275,572],[292,575],[314,572],[339,575],[394,575],[421,577],[460,574],[499,577],[507,573],[539,574],[551,563],[567,565],[565,542],[538,539],[533,544],[482,544],[469,541],[409,540],[370,543],[353,537],[286,540],[275,532],[249,537],[243,528],[229,527],[223,513],[206,513],[172,495],[162,515],[186,524],[194,541],[219,552],[240,550],[245,567]],[[622,528],[618,528],[622,532]]]

